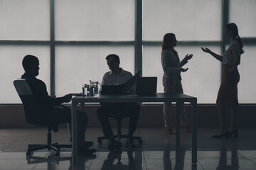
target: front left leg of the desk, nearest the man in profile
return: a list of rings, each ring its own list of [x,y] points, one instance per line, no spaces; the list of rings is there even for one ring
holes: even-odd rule
[[[72,164],[78,164],[78,103],[72,101]]]

